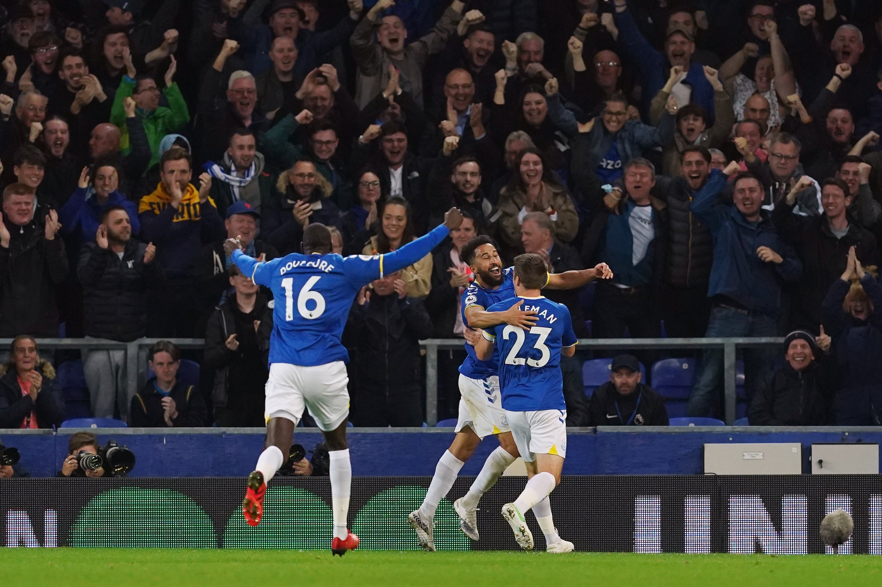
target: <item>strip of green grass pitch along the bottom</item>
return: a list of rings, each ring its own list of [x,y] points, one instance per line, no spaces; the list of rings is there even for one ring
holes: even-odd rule
[[[878,556],[2,548],[4,585],[598,585],[798,587],[882,584]]]

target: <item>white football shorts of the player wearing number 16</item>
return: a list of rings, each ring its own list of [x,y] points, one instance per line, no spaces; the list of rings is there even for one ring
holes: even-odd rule
[[[349,416],[348,383],[343,361],[309,367],[273,363],[266,380],[266,421],[288,418],[296,426],[305,406],[323,432],[336,430]]]

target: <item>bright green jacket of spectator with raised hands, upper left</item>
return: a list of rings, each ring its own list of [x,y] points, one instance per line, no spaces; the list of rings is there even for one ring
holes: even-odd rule
[[[116,124],[122,132],[120,139],[120,147],[124,154],[129,153],[129,131],[125,127],[125,108],[123,102],[130,97],[135,91],[135,80],[127,75],[123,75],[123,81],[120,82],[119,88],[116,90],[116,97],[113,101],[113,107],[110,109],[110,123]],[[184,102],[181,90],[177,87],[177,82],[169,87],[162,88],[162,94],[165,94],[168,105],[171,108],[160,106],[153,112],[145,112],[142,109],[135,110],[135,116],[144,124],[144,130],[147,133],[147,141],[150,143],[150,151],[153,157],[147,169],[150,169],[160,161],[160,142],[162,137],[171,132],[177,132],[184,124],[190,122],[190,111],[187,109],[187,102]]]

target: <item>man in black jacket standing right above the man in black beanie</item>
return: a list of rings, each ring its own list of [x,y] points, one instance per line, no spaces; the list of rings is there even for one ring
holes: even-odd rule
[[[878,266],[876,237],[848,216],[852,203],[848,185],[830,177],[821,184],[820,216],[793,214],[801,192],[811,186],[811,179],[800,178],[772,213],[772,222],[784,242],[796,248],[803,260],[804,277],[793,292],[790,326],[817,332],[821,323],[821,302],[833,282],[845,270],[848,250],[854,247],[864,266]],[[814,197],[814,194],[812,194]]]

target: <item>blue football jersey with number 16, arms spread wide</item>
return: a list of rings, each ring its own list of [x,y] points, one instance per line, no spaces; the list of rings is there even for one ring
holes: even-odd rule
[[[363,286],[385,274],[413,265],[445,239],[444,224],[424,237],[383,255],[293,252],[265,263],[241,251],[233,261],[244,275],[273,290],[273,334],[270,363],[325,365],[348,361],[340,343],[349,308]]]

